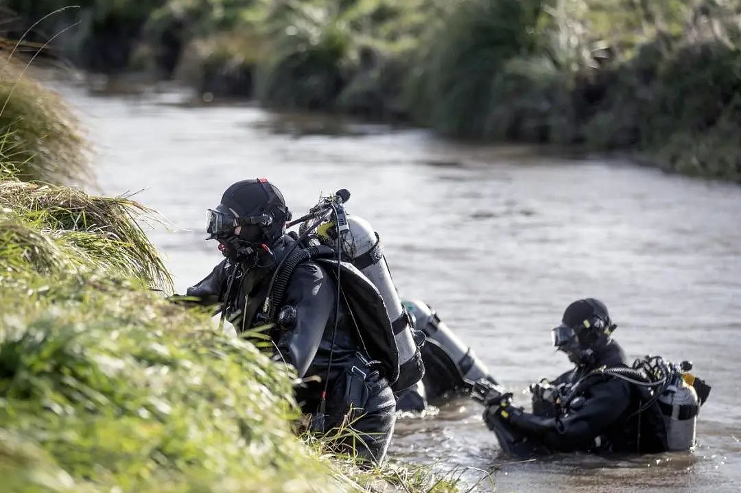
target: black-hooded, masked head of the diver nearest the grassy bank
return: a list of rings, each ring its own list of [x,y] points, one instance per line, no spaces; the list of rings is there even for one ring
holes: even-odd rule
[[[227,188],[216,209],[209,209],[206,223],[208,239],[225,246],[225,255],[245,249],[247,254],[259,247],[269,249],[285,232],[290,211],[283,194],[265,178],[242,180]],[[239,235],[235,229],[239,227]]]

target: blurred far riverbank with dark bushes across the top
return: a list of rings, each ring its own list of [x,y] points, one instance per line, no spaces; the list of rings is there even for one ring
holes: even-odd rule
[[[26,24],[52,8],[9,5]],[[55,23],[50,33],[92,16],[77,38],[62,38],[64,53],[93,70],[145,70],[207,100],[256,98],[454,138],[639,152],[665,170],[741,182],[741,7],[731,2],[106,6],[90,0],[84,15],[66,10],[44,21]],[[110,40],[122,26],[126,36]],[[116,47],[125,56],[104,56]]]

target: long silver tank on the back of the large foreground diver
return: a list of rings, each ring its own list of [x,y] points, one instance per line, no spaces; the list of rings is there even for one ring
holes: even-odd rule
[[[401,392],[418,382],[425,375],[422,354],[419,347],[425,341],[422,332],[414,330],[411,316],[402,306],[396,286],[391,279],[383,244],[378,233],[365,219],[347,215],[345,230],[340,238],[342,257],[350,261],[379,290],[391,320],[396,347],[399,351],[399,379],[391,386],[393,392]],[[334,238],[332,238],[334,236]],[[316,230],[316,237],[322,244],[336,246],[336,227],[334,221],[322,224]]]

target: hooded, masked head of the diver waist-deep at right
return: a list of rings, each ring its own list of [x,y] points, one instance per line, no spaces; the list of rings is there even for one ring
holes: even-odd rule
[[[574,363],[587,363],[595,349],[610,341],[616,327],[605,303],[594,298],[577,300],[566,308],[561,324],[553,329],[554,346]]]

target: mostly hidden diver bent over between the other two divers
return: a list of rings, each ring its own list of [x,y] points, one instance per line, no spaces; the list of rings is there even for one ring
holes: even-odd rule
[[[479,380],[497,384],[473,349],[440,320],[431,306],[419,300],[402,301],[402,304],[427,341],[422,346],[425,376],[415,386],[399,393],[396,409],[422,412],[428,404],[439,405],[469,395],[473,384]]]

